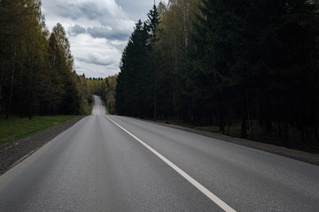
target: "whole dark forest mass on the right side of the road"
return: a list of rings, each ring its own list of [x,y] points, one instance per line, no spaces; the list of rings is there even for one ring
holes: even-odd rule
[[[121,57],[119,115],[275,132],[319,146],[317,0],[170,0],[138,20]],[[319,149],[319,148],[318,148]]]

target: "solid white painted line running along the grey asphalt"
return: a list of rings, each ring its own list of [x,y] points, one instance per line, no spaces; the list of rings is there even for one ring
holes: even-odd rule
[[[106,116],[107,117],[107,116]],[[219,199],[214,193],[211,193],[208,189],[206,189],[205,186],[202,186],[198,183],[194,178],[191,178],[190,175],[188,175],[185,171],[178,168],[174,163],[170,162],[165,156],[160,155],[158,151],[151,148],[149,145],[147,145],[143,140],[138,139],[134,134],[129,133],[128,130],[126,130],[121,125],[114,122],[110,117],[107,117],[110,121],[113,122],[114,125],[119,126],[124,132],[128,133],[130,136],[132,136],[135,140],[140,142],[145,148],[148,148],[154,155],[157,155],[162,161],[167,163],[171,168],[173,168],[175,171],[177,171],[180,175],[183,176],[183,178],[187,179],[193,186],[197,187],[199,191],[204,193],[210,200],[214,201],[219,207],[221,207],[226,212],[236,212],[233,208],[231,208],[229,205],[227,205],[224,201]]]

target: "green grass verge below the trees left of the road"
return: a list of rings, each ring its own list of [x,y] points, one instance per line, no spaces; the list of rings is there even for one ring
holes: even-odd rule
[[[63,124],[75,117],[79,116],[32,117],[31,120],[27,117],[9,117],[8,120],[0,119],[0,145],[38,133],[52,126]]]

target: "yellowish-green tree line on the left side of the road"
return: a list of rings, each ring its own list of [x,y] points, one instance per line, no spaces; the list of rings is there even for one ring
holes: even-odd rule
[[[86,114],[89,90],[74,71],[64,27],[50,33],[40,0],[0,2],[0,114]]]

